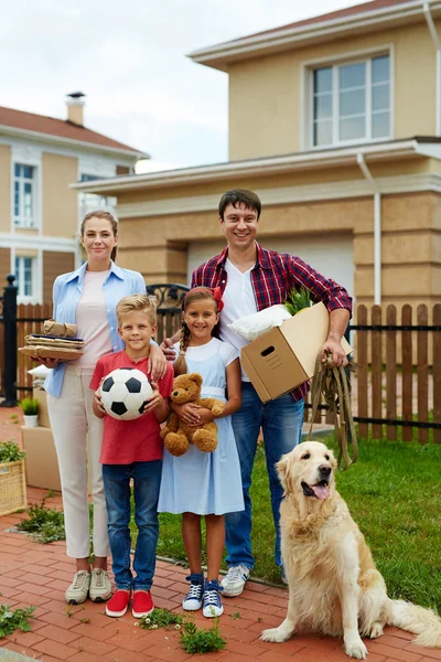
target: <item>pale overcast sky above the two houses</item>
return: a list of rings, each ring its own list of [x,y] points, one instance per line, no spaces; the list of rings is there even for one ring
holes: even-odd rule
[[[151,154],[227,160],[227,74],[186,54],[357,0],[0,0],[0,106],[66,117]],[[255,111],[255,109],[250,109]]]

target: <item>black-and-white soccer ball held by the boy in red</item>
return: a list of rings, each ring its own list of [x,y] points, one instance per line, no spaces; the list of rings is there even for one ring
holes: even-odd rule
[[[103,381],[101,403],[118,420],[133,420],[143,414],[146,401],[153,395],[146,374],[136,367],[118,367]]]

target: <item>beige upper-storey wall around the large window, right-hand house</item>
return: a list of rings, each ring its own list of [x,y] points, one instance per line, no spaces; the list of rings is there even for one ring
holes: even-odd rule
[[[395,52],[392,137],[433,135],[435,51],[427,24],[421,22],[232,64],[229,159],[300,151],[303,63],[326,57],[332,62],[334,56],[389,45]]]

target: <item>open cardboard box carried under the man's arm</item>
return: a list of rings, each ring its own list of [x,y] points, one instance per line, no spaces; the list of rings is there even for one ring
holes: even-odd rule
[[[323,303],[315,303],[243,349],[241,365],[263,403],[292,391],[313,376],[316,356],[327,338],[329,328],[327,309]],[[351,353],[344,338],[342,346],[346,354]]]

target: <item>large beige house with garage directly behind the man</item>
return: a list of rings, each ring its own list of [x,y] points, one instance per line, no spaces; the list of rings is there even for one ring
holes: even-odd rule
[[[224,242],[229,188],[262,244],[357,302],[441,299],[441,3],[374,0],[197,51],[229,77],[229,161],[78,185],[118,199],[120,260],[187,282]]]

